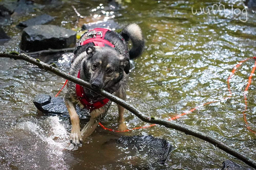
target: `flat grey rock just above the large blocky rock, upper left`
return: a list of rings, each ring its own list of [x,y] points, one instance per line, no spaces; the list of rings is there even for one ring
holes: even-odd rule
[[[29,20],[20,22],[17,27],[28,27],[28,26],[33,26],[33,25],[40,25],[40,24],[46,24],[50,21],[54,20],[54,17],[44,14],[37,16],[35,18],[31,18]]]

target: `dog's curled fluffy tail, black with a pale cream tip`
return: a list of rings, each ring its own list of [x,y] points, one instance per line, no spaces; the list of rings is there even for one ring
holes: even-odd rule
[[[120,35],[124,38],[126,42],[132,41],[132,49],[129,52],[130,59],[134,59],[142,54],[145,41],[141,32],[141,28],[135,24],[127,25]]]

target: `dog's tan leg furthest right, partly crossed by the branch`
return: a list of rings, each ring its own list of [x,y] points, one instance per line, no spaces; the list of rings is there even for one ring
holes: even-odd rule
[[[116,96],[126,101],[126,87],[125,86],[121,87],[116,93]],[[127,126],[124,122],[124,117],[123,117],[124,108],[119,105],[117,105],[117,107],[118,107],[118,123],[119,123],[118,130],[119,131],[127,130]]]

